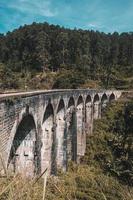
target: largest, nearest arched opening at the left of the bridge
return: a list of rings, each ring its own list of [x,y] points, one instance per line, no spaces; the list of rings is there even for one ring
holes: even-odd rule
[[[26,115],[20,122],[11,147],[9,168],[15,173],[34,176],[39,168],[37,132],[34,119]]]

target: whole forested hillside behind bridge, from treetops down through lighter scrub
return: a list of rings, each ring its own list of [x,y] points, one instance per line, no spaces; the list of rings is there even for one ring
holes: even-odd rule
[[[3,89],[133,85],[133,33],[105,34],[33,23],[0,34]]]

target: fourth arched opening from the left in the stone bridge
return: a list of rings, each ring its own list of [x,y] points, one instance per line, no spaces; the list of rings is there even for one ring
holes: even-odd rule
[[[77,119],[75,102],[70,97],[66,115],[67,122],[67,160],[77,160]]]

